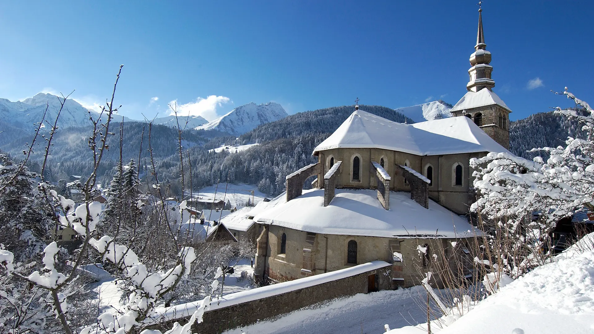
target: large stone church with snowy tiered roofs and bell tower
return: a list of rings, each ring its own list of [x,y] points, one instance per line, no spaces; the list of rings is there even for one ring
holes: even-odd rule
[[[417,285],[431,261],[466,263],[475,200],[469,160],[508,152],[510,108],[492,89],[479,10],[466,94],[451,117],[402,124],[355,110],[315,147],[318,162],[286,177],[286,193],[247,215],[258,226],[255,276],[282,282],[374,260],[393,263],[392,288]],[[311,190],[306,179],[315,176]],[[436,250],[441,255],[434,255]]]

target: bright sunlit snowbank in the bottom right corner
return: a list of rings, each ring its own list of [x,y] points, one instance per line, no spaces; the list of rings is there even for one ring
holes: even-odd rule
[[[594,234],[588,237],[594,239]],[[503,286],[458,320],[440,320],[431,323],[432,333],[594,333],[594,251],[570,249],[557,261]],[[388,333],[423,332],[426,323]]]

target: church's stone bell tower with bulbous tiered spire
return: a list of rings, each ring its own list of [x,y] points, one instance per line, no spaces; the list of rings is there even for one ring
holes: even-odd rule
[[[479,1],[479,25],[476,31],[475,52],[470,55],[468,91],[451,109],[453,116],[466,116],[505,149],[510,148],[510,108],[493,92],[495,80],[491,52],[486,51],[482,24],[482,1]]]

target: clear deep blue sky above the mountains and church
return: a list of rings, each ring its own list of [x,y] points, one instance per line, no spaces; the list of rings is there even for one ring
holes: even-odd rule
[[[168,115],[173,100],[210,120],[249,102],[289,113],[356,97],[454,104],[466,92],[476,2],[2,1],[0,97],[76,89],[84,105],[104,103],[124,64],[117,102],[136,119]],[[483,8],[494,91],[512,119],[568,105],[550,92],[564,86],[594,103],[592,2]]]

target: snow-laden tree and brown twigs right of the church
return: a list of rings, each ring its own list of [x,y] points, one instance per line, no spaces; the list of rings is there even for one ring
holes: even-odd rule
[[[567,89],[561,93],[574,100],[580,111],[555,108],[555,112],[583,124],[585,139],[568,137],[565,146],[542,147],[546,162],[509,153],[489,153],[471,159],[477,201],[471,209],[490,237],[489,259],[497,270],[512,278],[544,263],[549,232],[558,220],[594,199],[594,116],[592,108]],[[482,218],[486,221],[482,222]]]

